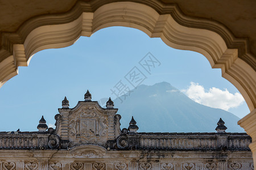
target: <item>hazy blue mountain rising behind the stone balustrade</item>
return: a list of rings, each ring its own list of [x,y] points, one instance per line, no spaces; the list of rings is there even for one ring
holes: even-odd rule
[[[167,82],[138,86],[123,103],[115,99],[114,104],[122,116],[121,128],[127,128],[134,116],[138,131],[214,132],[221,117],[226,131],[244,132],[234,114],[196,103]]]

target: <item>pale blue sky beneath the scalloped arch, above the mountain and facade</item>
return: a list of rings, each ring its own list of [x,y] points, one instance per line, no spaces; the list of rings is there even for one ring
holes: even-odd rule
[[[161,63],[151,74],[139,65],[148,52]],[[169,82],[199,103],[215,103],[210,106],[226,108],[238,117],[249,113],[236,87],[221,77],[220,69],[212,69],[203,55],[170,48],[138,29],[110,27],[80,37],[67,48],[38,52],[28,67],[19,67],[19,74],[0,89],[0,131],[37,131],[42,115],[48,125],[55,124],[64,96],[71,108],[84,100],[86,90],[92,100],[114,99],[110,89],[119,80],[130,86],[124,76],[134,66],[147,77],[142,84]]]

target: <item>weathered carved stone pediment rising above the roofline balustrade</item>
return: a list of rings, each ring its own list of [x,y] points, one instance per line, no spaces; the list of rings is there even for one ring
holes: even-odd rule
[[[56,116],[56,134],[61,140],[69,141],[68,147],[106,147],[107,141],[115,140],[121,133],[119,116],[116,116],[118,109],[105,109],[97,101],[91,101],[87,96],[85,98],[86,100],[79,101],[75,108],[69,109],[65,104],[65,107],[59,109],[60,114]],[[86,154],[92,153],[86,152],[83,155]]]

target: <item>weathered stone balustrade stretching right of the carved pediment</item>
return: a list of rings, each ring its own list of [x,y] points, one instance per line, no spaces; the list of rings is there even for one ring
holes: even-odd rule
[[[250,150],[246,133],[128,133],[117,139],[119,149]]]

